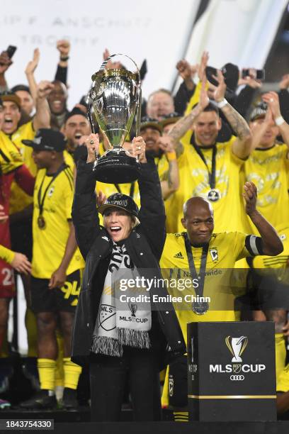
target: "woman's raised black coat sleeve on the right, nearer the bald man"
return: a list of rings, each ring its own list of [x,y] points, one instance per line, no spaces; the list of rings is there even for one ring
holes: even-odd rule
[[[154,256],[159,260],[166,238],[162,189],[154,160],[147,160],[147,163],[142,164],[141,167],[141,175],[138,179],[141,204],[139,219],[142,232],[149,241]]]

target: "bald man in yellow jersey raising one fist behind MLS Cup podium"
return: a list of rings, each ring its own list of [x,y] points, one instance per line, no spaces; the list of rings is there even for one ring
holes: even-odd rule
[[[183,206],[183,233],[166,235],[166,243],[160,261],[163,275],[181,279],[189,276],[198,284],[194,289],[179,291],[168,287],[169,294],[183,297],[175,303],[183,338],[186,340],[186,325],[193,321],[238,321],[239,312],[234,311],[234,294],[222,289],[219,275],[232,269],[234,262],[254,255],[278,255],[283,245],[276,230],[256,211],[256,186],[247,182],[244,186],[246,213],[258,228],[261,237],[239,232],[215,233],[212,204],[202,197],[193,197]],[[209,270],[217,271],[212,276]],[[184,295],[210,296],[210,301],[187,301]],[[229,299],[229,301],[228,301]],[[221,310],[223,309],[223,310]],[[163,404],[169,404],[168,386],[171,379],[170,404],[179,411],[187,405],[186,357],[169,368],[164,384]],[[181,382],[181,386],[180,386]],[[172,386],[174,384],[174,386]],[[175,391],[175,393],[174,393]]]

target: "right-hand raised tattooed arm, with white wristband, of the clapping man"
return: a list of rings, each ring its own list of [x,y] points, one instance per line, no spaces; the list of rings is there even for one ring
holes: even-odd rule
[[[215,87],[214,99],[217,103],[224,101],[226,84],[222,72],[217,71],[217,77],[213,76],[217,82],[218,86]],[[210,85],[212,87],[212,85]],[[232,151],[234,155],[245,160],[250,155],[251,151],[251,131],[249,125],[246,123],[244,118],[235,110],[229,103],[225,104],[221,108],[229,125],[237,134],[237,139],[232,145]]]

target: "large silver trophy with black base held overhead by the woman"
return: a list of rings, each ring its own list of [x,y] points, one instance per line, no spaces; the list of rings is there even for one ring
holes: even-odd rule
[[[92,77],[89,92],[94,115],[103,136],[110,145],[101,157],[94,163],[96,179],[108,184],[133,182],[140,174],[140,163],[123,148],[123,143],[130,133],[132,121],[137,114],[136,132],[140,134],[141,89],[140,72],[127,69],[106,69],[111,55],[101,65]],[[91,120],[90,120],[91,121]]]

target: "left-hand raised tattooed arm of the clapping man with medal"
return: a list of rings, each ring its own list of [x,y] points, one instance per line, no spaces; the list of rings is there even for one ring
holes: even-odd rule
[[[203,109],[205,109],[205,107],[209,104],[208,94],[205,90],[205,83],[206,79],[203,77],[202,88],[200,90],[200,101],[198,102],[197,106],[193,108],[191,113],[188,113],[188,115],[179,119],[179,121],[176,122],[173,128],[171,128],[169,131],[169,137],[173,140],[177,157],[183,153],[183,145],[180,143],[181,138],[191,128],[196,117],[199,116]]]

